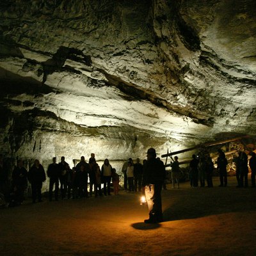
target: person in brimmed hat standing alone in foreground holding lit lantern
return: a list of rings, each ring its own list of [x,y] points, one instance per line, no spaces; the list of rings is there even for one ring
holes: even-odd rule
[[[161,190],[164,182],[164,163],[156,159],[156,150],[147,150],[147,162],[143,164],[142,186],[148,204],[149,218],[145,223],[163,221]]]

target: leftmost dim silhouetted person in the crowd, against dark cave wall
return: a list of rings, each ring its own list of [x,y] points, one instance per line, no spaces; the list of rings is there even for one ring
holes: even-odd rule
[[[24,192],[28,186],[27,178],[28,172],[23,166],[22,160],[19,159],[17,161],[17,166],[15,166],[12,173],[12,187],[17,204],[22,204],[24,201]]]

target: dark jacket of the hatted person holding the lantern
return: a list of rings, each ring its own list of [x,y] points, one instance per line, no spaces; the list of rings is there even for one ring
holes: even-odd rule
[[[142,186],[163,183],[165,179],[164,163],[156,158],[149,159],[143,164]]]

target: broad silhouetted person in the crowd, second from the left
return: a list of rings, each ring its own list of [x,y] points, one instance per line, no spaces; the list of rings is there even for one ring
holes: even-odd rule
[[[36,197],[38,198],[38,202],[42,202],[42,184],[45,181],[45,172],[44,167],[40,164],[39,160],[36,159],[33,166],[29,169],[28,172],[28,180],[31,183],[32,188],[32,200],[33,204],[36,202]]]

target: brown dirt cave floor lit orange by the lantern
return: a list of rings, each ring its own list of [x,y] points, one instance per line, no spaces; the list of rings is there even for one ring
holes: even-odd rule
[[[0,255],[256,255],[255,188],[163,191],[164,222],[144,224],[140,195],[0,209]]]

